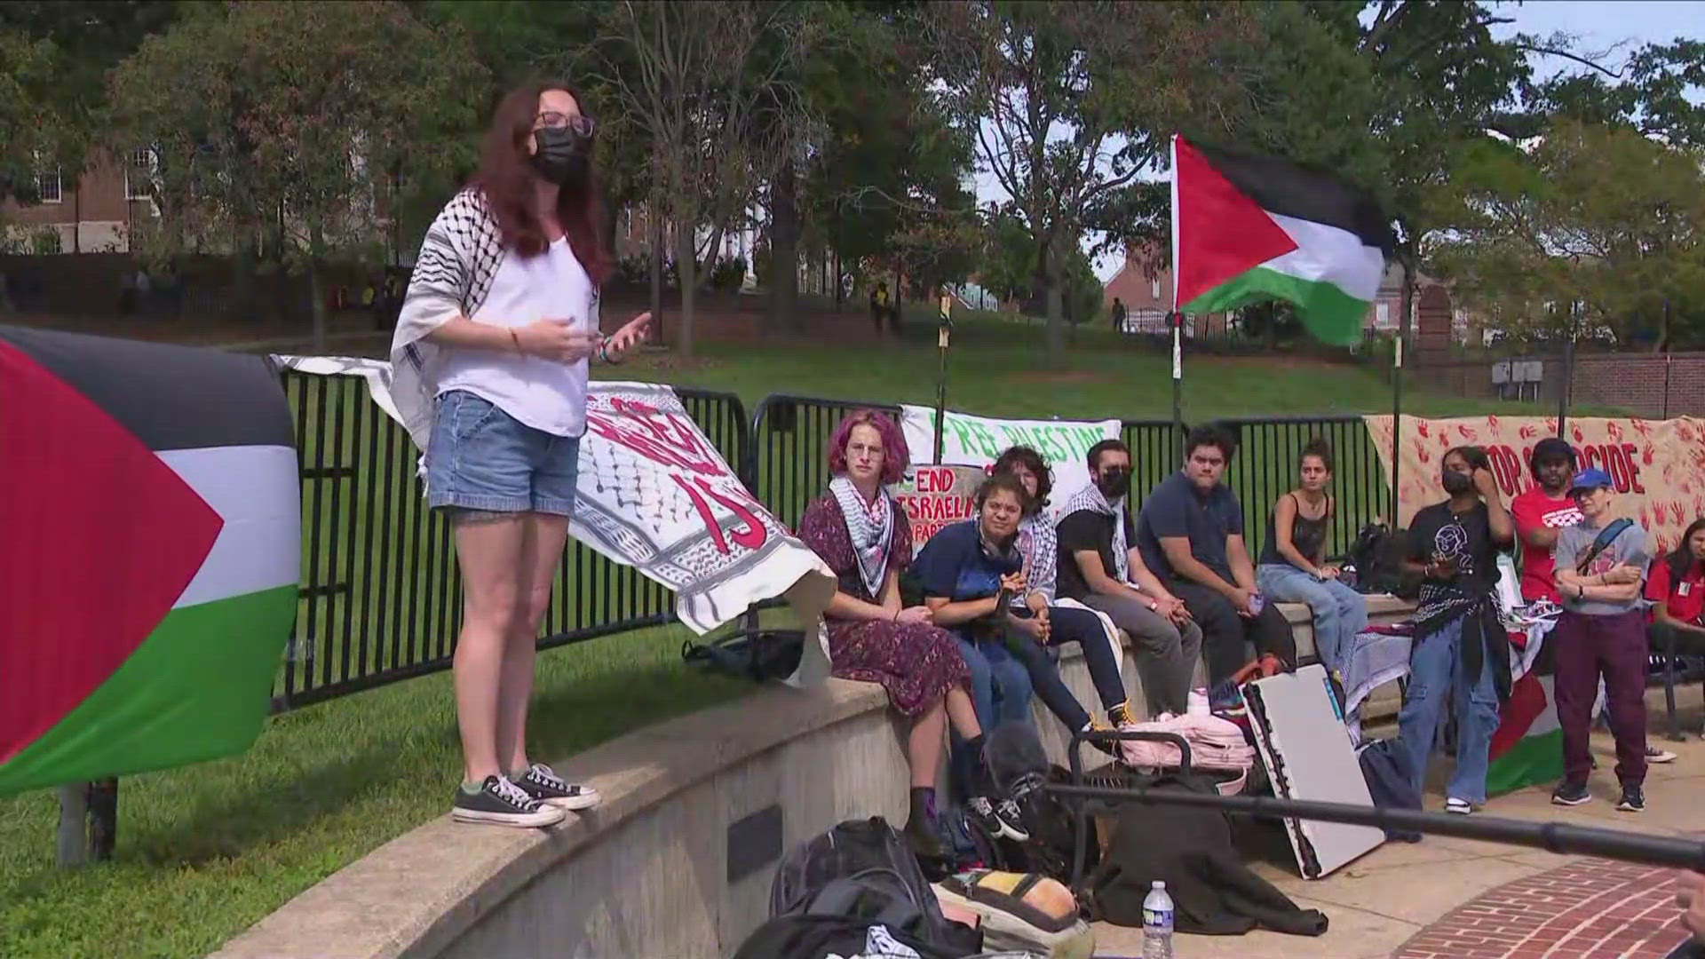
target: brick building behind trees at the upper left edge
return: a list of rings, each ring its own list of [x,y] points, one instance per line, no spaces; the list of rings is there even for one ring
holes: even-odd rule
[[[145,188],[148,162],[145,150],[128,162],[95,154],[77,177],[60,169],[41,171],[36,181],[41,201],[0,203],[0,230],[26,253],[53,253],[49,237],[58,239],[58,253],[126,253],[135,230],[159,215]],[[131,164],[142,164],[135,177]]]

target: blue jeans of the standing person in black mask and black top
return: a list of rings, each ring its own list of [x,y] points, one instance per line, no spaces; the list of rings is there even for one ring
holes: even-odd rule
[[[1480,657],[1480,676],[1470,677],[1463,662],[1463,619],[1420,640],[1410,654],[1408,695],[1396,717],[1398,735],[1413,761],[1413,785],[1427,778],[1427,758],[1439,732],[1444,700],[1456,700],[1456,771],[1444,795],[1475,805],[1487,800],[1487,763],[1497,732],[1499,701],[1492,684],[1490,657]]]

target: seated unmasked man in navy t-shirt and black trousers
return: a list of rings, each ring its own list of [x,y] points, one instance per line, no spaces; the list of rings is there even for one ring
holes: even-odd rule
[[[1221,476],[1236,452],[1221,427],[1202,425],[1185,437],[1183,469],[1163,480],[1142,503],[1137,546],[1144,560],[1202,625],[1214,708],[1243,705],[1236,677],[1274,676],[1296,665],[1296,640],[1279,607],[1263,602],[1255,563],[1243,543],[1243,507]],[[1246,645],[1255,647],[1250,662]]]

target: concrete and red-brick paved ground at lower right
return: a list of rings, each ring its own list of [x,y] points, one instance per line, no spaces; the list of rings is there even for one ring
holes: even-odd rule
[[[1654,729],[1649,741],[1676,753],[1676,761],[1650,768],[1645,812],[1616,812],[1616,759],[1606,734],[1592,742],[1599,758],[1594,802],[1552,805],[1546,783],[1497,797],[1485,814],[1664,836],[1705,834],[1700,688],[1678,689],[1688,742],[1662,737],[1662,689],[1650,691],[1647,706]],[[1437,792],[1427,797],[1430,811],[1442,804]],[[1666,956],[1683,939],[1674,921],[1671,870],[1429,836],[1386,843],[1309,882],[1298,875],[1277,831],[1260,836],[1272,841],[1245,850],[1257,857],[1251,867],[1299,906],[1326,913],[1328,932],[1318,939],[1270,932],[1180,935],[1173,947],[1178,959],[1647,959]],[[1096,956],[1142,956],[1142,930],[1098,925]]]

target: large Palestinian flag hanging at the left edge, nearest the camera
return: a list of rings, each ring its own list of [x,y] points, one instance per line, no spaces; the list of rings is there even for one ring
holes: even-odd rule
[[[0,795],[247,749],[300,527],[268,360],[0,326]]]

